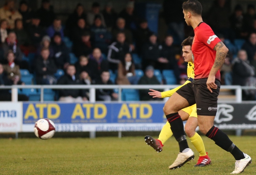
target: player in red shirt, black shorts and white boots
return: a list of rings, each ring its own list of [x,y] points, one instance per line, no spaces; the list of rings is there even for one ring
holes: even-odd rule
[[[185,22],[188,26],[192,26],[195,32],[192,44],[195,78],[193,82],[178,89],[163,108],[181,150],[169,169],[181,167],[194,156],[188,147],[178,111],[196,103],[200,131],[234,156],[236,168],[231,174],[241,173],[252,162],[251,157],[238,149],[224,132],[214,126],[221,86],[219,69],[225,61],[228,49],[214,34],[211,27],[203,22],[202,5],[199,1],[185,1],[182,8]]]

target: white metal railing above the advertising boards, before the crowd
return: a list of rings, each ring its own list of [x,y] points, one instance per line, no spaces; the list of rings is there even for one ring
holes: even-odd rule
[[[167,91],[176,88],[179,85],[12,85],[12,86],[0,86],[0,89],[11,89],[12,101],[18,101],[18,89],[41,89],[40,101],[44,101],[44,89],[89,89],[90,102],[95,102],[95,90],[96,89],[118,89],[118,101],[122,101],[121,92],[122,89],[163,89]],[[221,89],[235,90],[236,101],[242,102],[242,89],[255,89],[251,86],[231,86],[222,85]],[[165,98],[167,101],[168,98]]]

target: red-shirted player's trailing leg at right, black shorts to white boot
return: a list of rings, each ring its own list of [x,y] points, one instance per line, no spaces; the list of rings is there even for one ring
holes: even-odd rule
[[[205,83],[194,83],[193,90],[196,96],[196,105],[200,109],[197,110],[198,126],[204,135],[214,140],[215,144],[234,156],[237,163],[236,169],[232,173],[237,174],[244,171],[244,168],[251,163],[252,159],[238,149],[224,132],[214,126],[220,82],[216,80],[215,84],[218,88],[212,89],[211,93],[206,88],[206,81]]]

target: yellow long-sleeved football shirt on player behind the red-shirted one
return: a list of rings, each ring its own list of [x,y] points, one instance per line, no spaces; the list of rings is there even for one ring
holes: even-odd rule
[[[182,86],[184,86],[187,83],[192,82],[193,79],[195,78],[195,71],[194,71],[194,69],[195,69],[194,63],[188,62],[188,68],[187,68],[188,80],[183,85],[178,86],[177,88],[174,88],[172,90],[168,90],[168,91],[165,91],[165,92],[161,92],[162,98],[172,96],[174,94],[174,92],[176,92]]]

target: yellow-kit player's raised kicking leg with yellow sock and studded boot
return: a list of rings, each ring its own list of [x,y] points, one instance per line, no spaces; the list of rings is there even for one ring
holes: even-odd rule
[[[180,110],[178,113],[180,114],[180,117],[182,119],[182,121],[186,121],[188,120],[189,114],[186,112],[183,112],[182,110]],[[192,110],[191,110],[192,112]],[[190,112],[190,113],[191,113]],[[163,151],[163,144],[170,138],[172,137],[173,132],[171,130],[170,127],[170,123],[167,121],[166,124],[163,126],[158,139],[154,139],[151,136],[145,136],[145,142],[147,145],[150,145],[151,147],[153,147],[155,149],[155,151],[157,152],[161,152]]]

